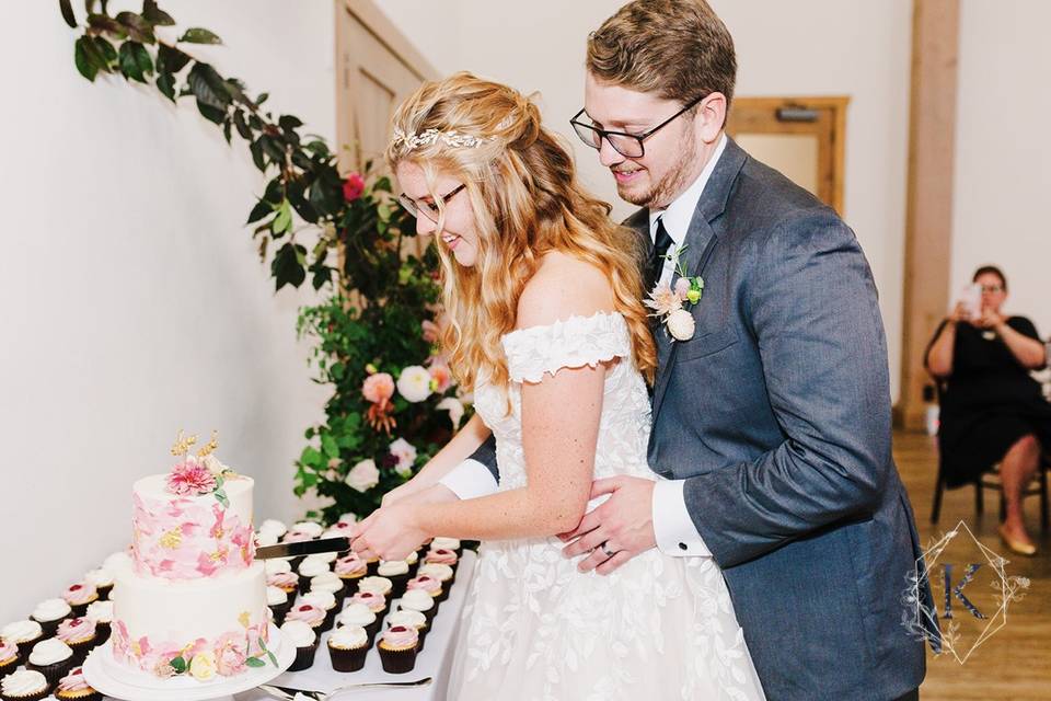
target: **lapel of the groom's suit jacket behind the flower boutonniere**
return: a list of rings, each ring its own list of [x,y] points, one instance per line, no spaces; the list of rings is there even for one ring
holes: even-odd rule
[[[686,231],[686,238],[683,240],[685,246],[679,257],[680,266],[686,272],[689,277],[704,277],[704,269],[715,254],[719,237],[716,228],[712,226],[726,210],[726,204],[729,200],[737,182],[737,176],[744,165],[748,154],[734,142],[734,139],[727,137],[726,149],[715,164],[715,170],[701,193],[701,199],[697,202],[697,208],[690,220],[690,229]],[[672,278],[672,285],[679,277],[678,271]],[[691,312],[694,321],[697,321],[701,314],[704,298],[701,302],[693,306]],[[700,324],[698,324],[700,325]],[[668,382],[671,378],[671,369],[675,364],[675,355],[681,341],[672,341],[666,329],[657,331],[658,342],[658,374],[657,382],[654,388],[654,422],[657,421],[657,413],[660,411],[660,404],[665,399],[665,392],[668,390]],[[661,338],[662,336],[662,338]]]

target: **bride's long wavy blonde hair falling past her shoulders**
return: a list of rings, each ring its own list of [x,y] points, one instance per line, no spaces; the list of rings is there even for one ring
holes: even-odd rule
[[[601,269],[614,307],[627,321],[632,359],[652,382],[657,353],[642,303],[637,234],[610,219],[610,205],[590,196],[576,177],[569,149],[541,126],[540,111],[521,93],[467,72],[424,83],[394,115],[395,139],[385,158],[425,173],[435,192],[439,173],[465,184],[478,232],[474,266],[458,265],[439,245],[442,302],[449,323],[441,335],[450,369],[466,390],[485,370],[496,387],[509,383],[500,336],[515,329],[518,300],[542,256],[558,251]],[[436,129],[461,141],[412,139]],[[463,137],[467,137],[466,146]],[[477,142],[470,137],[478,137]]]

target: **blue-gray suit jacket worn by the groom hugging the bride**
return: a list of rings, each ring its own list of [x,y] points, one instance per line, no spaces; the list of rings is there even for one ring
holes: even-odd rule
[[[650,245],[646,210],[625,223]],[[684,243],[704,294],[691,340],[657,332],[649,464],[685,480],[770,699],[896,699],[924,676],[901,623],[922,553],[865,255],[732,140]],[[498,475],[490,449],[475,457]]]

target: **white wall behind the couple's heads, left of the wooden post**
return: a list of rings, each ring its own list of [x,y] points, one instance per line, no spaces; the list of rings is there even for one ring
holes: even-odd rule
[[[498,11],[485,0],[434,10],[426,0],[382,8],[441,72],[471,70],[542,93],[546,124],[574,143],[589,186],[617,203],[612,179],[568,120],[581,106],[585,43],[622,0],[534,0]],[[845,218],[880,292],[898,397],[909,133],[911,0],[712,0],[734,35],[738,95],[848,95]],[[513,30],[509,30],[513,26]]]

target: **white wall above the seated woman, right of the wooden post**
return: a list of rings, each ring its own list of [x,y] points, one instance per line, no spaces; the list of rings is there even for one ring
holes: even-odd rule
[[[963,0],[951,295],[1000,265],[1006,309],[1051,336],[1051,3]],[[1037,78],[1035,80],[1035,78]]]

